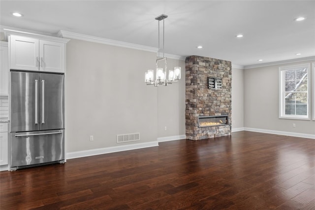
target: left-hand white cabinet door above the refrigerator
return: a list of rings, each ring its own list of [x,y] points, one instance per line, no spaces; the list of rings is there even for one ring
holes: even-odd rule
[[[10,36],[10,69],[39,70],[38,39],[24,36]]]

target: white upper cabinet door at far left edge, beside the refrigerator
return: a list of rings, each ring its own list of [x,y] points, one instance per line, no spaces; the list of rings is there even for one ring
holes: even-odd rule
[[[8,47],[0,46],[0,95],[8,95]]]

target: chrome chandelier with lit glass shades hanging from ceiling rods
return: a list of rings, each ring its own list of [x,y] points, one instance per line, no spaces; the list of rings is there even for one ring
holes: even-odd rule
[[[156,78],[154,79],[154,70],[148,70],[145,72],[145,82],[147,85],[154,85],[155,87],[158,87],[158,85],[164,85],[167,86],[168,84],[172,84],[173,82],[178,82],[178,80],[181,78],[181,68],[180,67],[174,67],[174,70],[168,70],[167,73],[167,61],[166,57],[164,57],[164,19],[167,18],[167,15],[161,14],[155,19],[158,20],[158,59],[156,60]],[[160,48],[159,48],[159,22],[163,20],[163,57],[160,57]],[[164,61],[164,68],[159,68],[158,63],[162,63]]]

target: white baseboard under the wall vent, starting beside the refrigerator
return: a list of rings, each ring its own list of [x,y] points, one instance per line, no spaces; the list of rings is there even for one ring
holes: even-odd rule
[[[104,147],[99,149],[89,149],[77,152],[67,152],[66,159],[73,159],[73,158],[80,158],[80,157],[88,157],[93,155],[101,155],[113,152],[122,152],[132,149],[142,149],[152,146],[158,146],[158,141],[151,141],[145,143],[134,143],[128,145],[121,145],[121,146],[111,146],[111,147]]]

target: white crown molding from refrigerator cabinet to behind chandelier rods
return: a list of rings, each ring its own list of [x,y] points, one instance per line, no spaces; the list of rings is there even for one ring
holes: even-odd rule
[[[96,36],[91,36],[91,35],[83,35],[83,34],[78,34],[78,33],[73,33],[73,32],[66,32],[66,31],[60,31],[58,33],[59,37],[65,37],[65,38],[73,38],[73,39],[79,39],[83,41],[91,41],[91,42],[96,42],[96,43],[101,43],[101,44],[108,44],[108,45],[113,45],[113,46],[118,46],[118,47],[126,47],[126,48],[132,48],[132,49],[137,49],[137,50],[144,50],[144,51],[149,51],[149,52],[157,52],[158,48],[156,47],[148,47],[145,45],[140,45],[140,44],[132,44],[124,41],[116,41],[113,39],[107,39],[107,38],[100,38]]]

